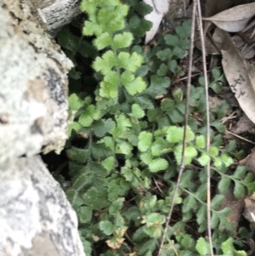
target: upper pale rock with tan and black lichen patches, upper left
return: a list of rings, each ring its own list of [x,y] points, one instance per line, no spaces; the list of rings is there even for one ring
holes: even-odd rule
[[[0,7],[0,169],[6,169],[42,146],[59,152],[65,145],[72,63],[26,3],[0,0]]]

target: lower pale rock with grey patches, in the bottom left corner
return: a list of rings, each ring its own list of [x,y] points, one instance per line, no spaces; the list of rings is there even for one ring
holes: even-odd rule
[[[84,256],[77,215],[40,156],[0,172],[1,256]]]

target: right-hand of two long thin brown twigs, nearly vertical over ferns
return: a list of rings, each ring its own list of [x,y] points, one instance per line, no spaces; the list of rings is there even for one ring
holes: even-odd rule
[[[205,47],[205,38],[203,33],[203,26],[201,21],[201,4],[200,0],[197,1],[197,16],[198,16],[198,27],[200,30],[201,37],[201,49],[202,49],[202,62],[203,62],[203,71],[205,76],[205,93],[206,93],[206,102],[207,102],[207,152],[210,151],[210,115],[209,115],[209,94],[208,94],[208,79],[207,79],[207,62],[206,62],[206,47]],[[213,256],[213,247],[212,247],[212,230],[211,230],[211,171],[210,171],[210,162],[207,163],[207,232],[208,232],[208,241],[210,244],[210,255]]]

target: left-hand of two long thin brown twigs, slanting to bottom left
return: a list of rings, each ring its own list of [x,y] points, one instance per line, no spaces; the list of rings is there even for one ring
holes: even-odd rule
[[[163,233],[163,236],[162,236],[162,239],[161,239],[161,245],[160,245],[159,251],[157,253],[158,256],[161,255],[162,248],[163,248],[164,242],[166,240],[167,230],[168,230],[168,227],[169,227],[169,224],[170,224],[170,220],[171,220],[172,213],[173,213],[174,202],[175,202],[175,199],[176,199],[176,196],[177,196],[178,185],[180,183],[181,176],[184,172],[185,148],[186,148],[186,144],[187,144],[187,126],[188,126],[188,122],[189,122],[191,68],[192,68],[192,61],[193,61],[193,48],[194,48],[194,37],[195,37],[195,9],[196,9],[196,2],[193,3],[193,10],[192,10],[192,23],[191,23],[191,35],[190,35],[190,53],[189,53],[189,71],[188,71],[187,95],[186,95],[186,104],[185,104],[185,126],[184,126],[184,141],[183,141],[182,161],[181,161],[181,166],[180,166],[180,170],[179,170],[179,173],[178,173],[178,180],[177,180],[177,183],[176,183],[174,191],[173,191],[173,200],[172,200],[169,212],[167,214],[166,226],[165,226],[164,233]]]

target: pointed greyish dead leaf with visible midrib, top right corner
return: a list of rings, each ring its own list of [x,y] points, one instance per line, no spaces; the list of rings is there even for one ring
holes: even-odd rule
[[[210,20],[216,26],[224,31],[238,32],[242,31],[252,16],[255,14],[255,3],[248,3],[235,6],[231,9],[224,10],[212,17],[203,18]]]

